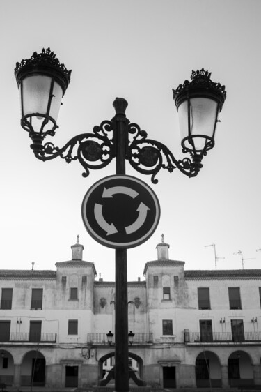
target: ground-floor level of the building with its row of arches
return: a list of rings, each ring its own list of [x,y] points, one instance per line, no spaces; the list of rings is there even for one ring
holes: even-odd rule
[[[129,347],[130,382],[164,388],[261,384],[261,347]],[[0,382],[10,386],[113,383],[113,347],[3,347]]]

